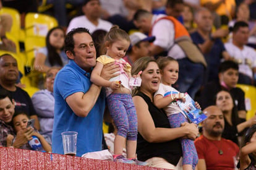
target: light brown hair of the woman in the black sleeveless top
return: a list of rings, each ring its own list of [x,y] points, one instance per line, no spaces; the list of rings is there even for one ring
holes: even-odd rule
[[[132,70],[130,71],[132,75],[137,75],[140,71],[143,72],[143,70],[145,70],[148,67],[148,64],[150,62],[156,62],[155,59],[153,59],[152,57],[141,57],[139,59],[137,59],[134,64],[132,65]],[[136,87],[132,90],[132,96],[136,95],[136,93],[138,93],[138,91],[140,90],[140,87]]]

